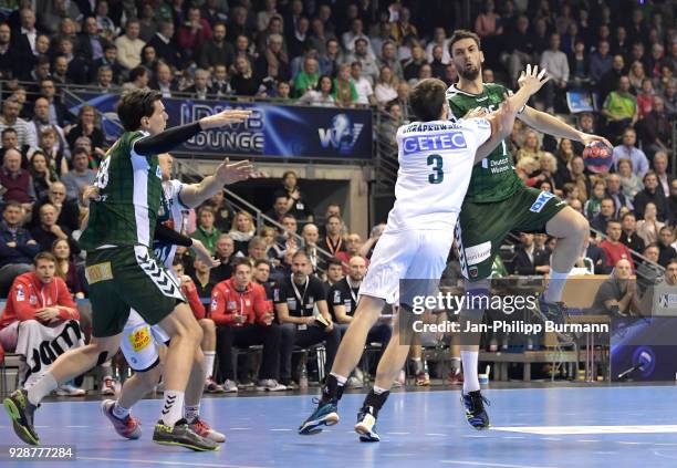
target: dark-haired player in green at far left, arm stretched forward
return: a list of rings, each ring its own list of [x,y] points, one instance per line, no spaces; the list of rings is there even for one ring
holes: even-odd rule
[[[227,110],[198,122],[165,131],[167,113],[162,94],[135,90],[123,95],[117,115],[124,134],[108,150],[96,176],[98,198],[81,237],[87,250],[86,277],[92,302],[93,339],[84,347],[59,356],[28,391],[4,399],[14,431],[38,445],[33,414],[58,383],[66,382],[105,362],[119,349],[129,310],[170,337],[165,364],[165,402],[153,440],[192,450],[218,450],[219,445],[197,435],[183,418],[184,394],[194,362],[199,360],[202,331],[179,285],[153,252],[153,235],[162,195],[157,155],[201,131],[244,122],[250,111]],[[221,186],[247,179],[252,166],[241,162],[222,170]],[[196,353],[198,357],[196,357]],[[202,357],[204,358],[204,357]]]

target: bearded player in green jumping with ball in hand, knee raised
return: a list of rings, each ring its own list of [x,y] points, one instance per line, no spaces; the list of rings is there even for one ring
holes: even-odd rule
[[[504,86],[482,82],[485,60],[480,40],[470,31],[455,31],[449,41],[449,54],[459,74],[459,81],[447,91],[447,101],[455,117],[481,107],[493,112],[508,93]],[[528,66],[529,70],[529,66]],[[590,144],[610,143],[560,122],[552,115],[524,106],[518,118],[539,132]],[[587,220],[566,206],[555,195],[524,186],[518,177],[504,141],[492,138],[478,149],[480,164],[472,168],[470,186],[464,200],[456,227],[466,293],[471,304],[481,304],[489,295],[489,275],[493,257],[511,231],[548,232],[558,239],[552,252],[550,281],[540,298],[537,311],[543,320],[561,321],[564,313],[562,290],[575,260],[580,257],[589,236]],[[481,322],[483,308],[461,311],[461,330],[466,322]],[[489,427],[478,379],[479,336],[465,336],[461,345],[464,366],[462,403],[466,417],[476,429]]]

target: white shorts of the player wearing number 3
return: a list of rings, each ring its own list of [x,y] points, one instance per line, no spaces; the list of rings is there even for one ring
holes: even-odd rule
[[[454,229],[386,229],[376,243],[360,294],[385,299],[388,304],[396,303],[403,295],[399,280],[405,279],[421,280],[416,284],[409,283],[424,288],[416,294],[435,294],[452,243]]]

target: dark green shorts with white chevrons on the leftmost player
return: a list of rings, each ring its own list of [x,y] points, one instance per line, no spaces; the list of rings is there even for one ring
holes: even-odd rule
[[[122,333],[129,309],[155,325],[186,302],[174,275],[144,246],[88,251],[85,274],[96,337]]]

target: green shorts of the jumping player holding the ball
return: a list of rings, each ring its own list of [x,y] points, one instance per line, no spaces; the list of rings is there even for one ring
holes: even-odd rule
[[[501,201],[465,201],[456,225],[464,278],[489,278],[493,257],[508,233],[545,232],[545,223],[565,207],[560,197],[524,186]]]

